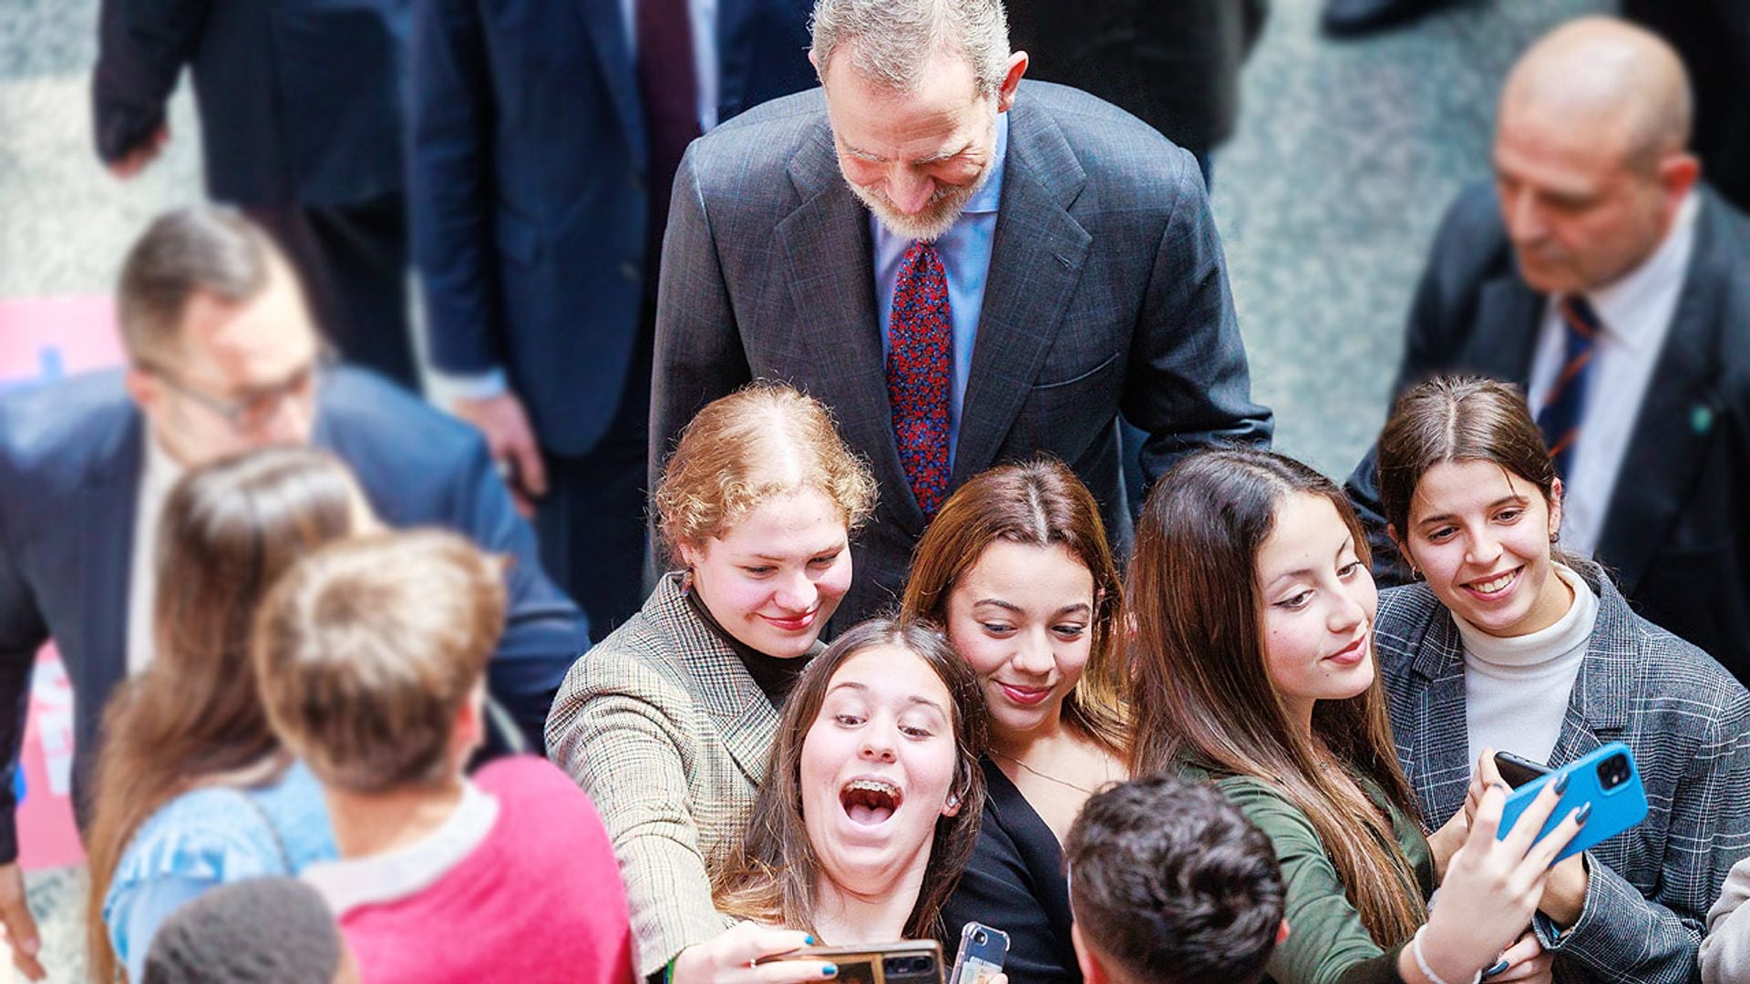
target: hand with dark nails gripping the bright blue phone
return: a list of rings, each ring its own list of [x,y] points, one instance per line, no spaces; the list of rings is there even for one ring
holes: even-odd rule
[[[1421,954],[1446,980],[1468,980],[1500,959],[1531,923],[1549,865],[1580,830],[1573,811],[1542,840],[1566,783],[1547,783],[1503,839],[1496,839],[1507,786],[1484,790],[1465,844],[1452,854],[1440,905],[1421,931]]]

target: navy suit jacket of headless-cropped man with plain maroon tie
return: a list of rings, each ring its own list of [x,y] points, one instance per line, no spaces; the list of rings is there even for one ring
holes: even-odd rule
[[[807,19],[802,0],[721,0],[719,119],[814,86]],[[413,25],[408,207],[432,359],[504,366],[541,441],[581,455],[654,292],[620,0],[416,0]]]

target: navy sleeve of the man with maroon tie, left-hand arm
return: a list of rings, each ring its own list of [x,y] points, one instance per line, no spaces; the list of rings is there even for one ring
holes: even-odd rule
[[[478,375],[504,361],[492,128],[495,95],[471,0],[415,0],[408,98],[408,222],[432,362]]]

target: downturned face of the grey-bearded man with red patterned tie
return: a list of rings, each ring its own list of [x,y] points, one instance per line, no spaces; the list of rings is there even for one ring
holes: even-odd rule
[[[934,240],[990,177],[996,114],[1013,105],[1026,70],[1026,54],[1015,58],[1013,82],[994,95],[980,95],[971,65],[948,53],[934,54],[917,91],[894,95],[833,56],[824,89],[838,168],[891,233]]]

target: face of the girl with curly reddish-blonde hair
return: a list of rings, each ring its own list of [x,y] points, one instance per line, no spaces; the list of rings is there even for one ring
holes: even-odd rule
[[[800,657],[850,590],[845,515],[803,488],[760,503],[726,534],[681,545],[698,599],[740,643]]]

